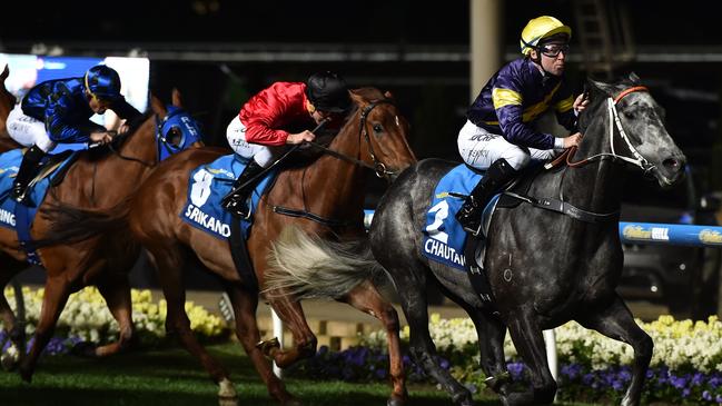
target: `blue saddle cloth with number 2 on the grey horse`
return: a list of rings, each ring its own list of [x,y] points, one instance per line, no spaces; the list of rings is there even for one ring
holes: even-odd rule
[[[456,212],[464,204],[464,199],[452,196],[451,192],[468,195],[482,179],[482,175],[468,169],[462,164],[449,170],[436,185],[431,208],[426,214],[424,228],[424,245],[422,252],[427,258],[453,268],[466,270],[464,244],[466,231],[456,220]],[[491,208],[498,199],[498,195],[489,201],[484,216],[491,216]]]

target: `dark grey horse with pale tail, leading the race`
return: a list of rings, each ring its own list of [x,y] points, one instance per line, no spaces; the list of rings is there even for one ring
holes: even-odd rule
[[[684,175],[685,157],[664,128],[663,109],[640,86],[636,75],[616,83],[590,81],[590,100],[580,117],[584,138],[567,159],[570,165],[542,172],[528,189],[528,196],[563,201],[566,215],[523,202],[498,208],[491,220],[484,269],[495,298],[492,306],[474,290],[465,273],[422,254],[434,189],[457,165],[439,159],[412,166],[386,191],[368,234],[373,256],[356,249],[363,241],[324,245],[318,239],[304,240],[291,230],[275,248],[278,275],[286,275],[275,280],[289,286],[303,279],[307,285],[296,287],[300,295],[323,296],[325,281],[337,294],[344,284],[353,287],[385,270],[409,324],[412,356],[459,405],[472,405],[472,395],[435,357],[427,283],[438,284],[468,313],[479,337],[481,367],[504,405],[554,400],[557,386],[542,330],[576,320],[633,347],[632,380],[622,405],[639,405],[653,343],[615,291],[623,254],[614,214],[626,176],[644,172],[661,187],[671,187]],[[303,260],[300,250],[306,254]],[[523,390],[513,388],[507,378],[503,351],[507,328],[531,375],[531,386]]]

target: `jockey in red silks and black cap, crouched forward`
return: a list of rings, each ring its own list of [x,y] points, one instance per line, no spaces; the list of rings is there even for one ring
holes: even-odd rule
[[[222,206],[235,216],[247,217],[246,200],[260,181],[258,176],[288,145],[313,141],[313,129],[322,121],[340,121],[352,106],[346,82],[333,72],[311,75],[304,82],[275,82],[251,97],[226,131],[230,148],[248,165],[234,182]],[[304,129],[290,132],[290,129]]]

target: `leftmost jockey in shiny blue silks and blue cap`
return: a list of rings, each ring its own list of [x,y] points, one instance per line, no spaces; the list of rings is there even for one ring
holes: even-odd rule
[[[13,181],[10,196],[27,204],[26,189],[46,154],[58,142],[107,143],[112,131],[90,121],[92,115],[112,110],[121,119],[140,115],[120,95],[118,72],[105,65],[95,66],[81,78],[48,80],[36,85],[8,116],[10,137],[30,147]]]

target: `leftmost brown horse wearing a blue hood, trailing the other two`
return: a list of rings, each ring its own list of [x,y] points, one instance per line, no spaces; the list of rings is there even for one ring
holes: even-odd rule
[[[172,103],[181,107],[180,95],[174,91]],[[46,199],[40,204],[38,216],[31,226],[34,240],[50,238],[52,219],[48,217],[50,208],[58,205],[72,205],[82,208],[109,208],[126,199],[144,178],[156,167],[161,142],[157,142],[157,131],[161,129],[168,110],[162,102],[152,97],[151,108],[155,115],[141,117],[142,121],[128,131],[119,146],[116,142],[101,150],[80,152],[79,158],[68,170],[65,179],[52,186]],[[174,111],[181,111],[175,110]],[[182,112],[182,115],[187,115]],[[157,116],[157,117],[156,117]],[[158,122],[156,120],[159,120]],[[174,127],[166,131],[165,139],[175,138],[177,132],[185,131]],[[201,145],[198,142],[197,145]],[[48,344],[62,311],[68,296],[88,285],[96,285],[106,299],[108,308],[119,324],[118,341],[92,349],[89,355],[107,356],[127,347],[133,326],[130,308],[130,286],[128,270],[133,266],[139,247],[128,244],[126,238],[112,234],[93,235],[82,241],[61,241],[55,246],[42,246],[37,252],[47,271],[47,281],[40,320],[36,326],[36,339],[29,355],[22,357],[20,350],[20,375],[30,380],[38,357]],[[102,252],[102,254],[100,254]],[[0,228],[0,287],[27,266],[27,255],[18,241],[14,230]],[[0,316],[10,331],[13,344],[22,348],[21,326],[16,320],[8,301],[0,295]]]

